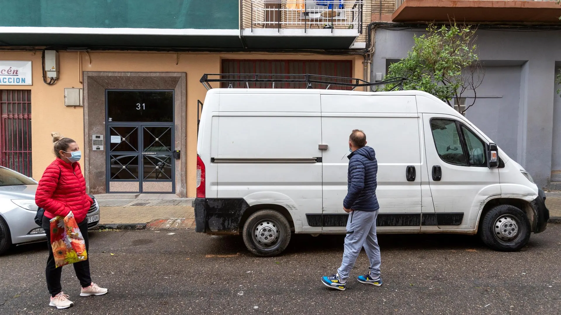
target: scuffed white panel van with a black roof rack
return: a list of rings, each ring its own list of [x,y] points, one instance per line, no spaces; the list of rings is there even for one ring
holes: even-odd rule
[[[516,251],[545,194],[465,117],[421,91],[211,89],[197,143],[196,231],[275,256],[292,233],[344,234],[348,137],[378,159],[379,233],[479,234]]]

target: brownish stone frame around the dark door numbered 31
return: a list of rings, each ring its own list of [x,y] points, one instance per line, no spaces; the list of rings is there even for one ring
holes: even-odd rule
[[[173,90],[175,163],[174,191],[187,197],[187,74],[185,72],[84,72],[84,170],[91,194],[107,193],[107,161],[104,150],[92,150],[92,136],[107,132],[105,90]],[[108,139],[104,138],[104,141]]]

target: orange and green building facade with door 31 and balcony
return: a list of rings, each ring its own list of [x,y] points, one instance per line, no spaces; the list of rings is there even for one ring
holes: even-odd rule
[[[79,143],[94,194],[195,195],[204,73],[370,73],[360,0],[7,0],[2,11],[0,165],[39,178],[57,131]]]

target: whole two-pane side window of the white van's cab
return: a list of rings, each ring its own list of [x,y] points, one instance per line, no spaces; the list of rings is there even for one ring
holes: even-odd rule
[[[449,119],[432,119],[430,127],[440,159],[454,165],[487,166],[485,142],[469,128]]]

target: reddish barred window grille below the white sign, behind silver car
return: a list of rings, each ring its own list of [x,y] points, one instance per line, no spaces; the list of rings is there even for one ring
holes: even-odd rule
[[[0,90],[0,165],[31,177],[31,90]]]

